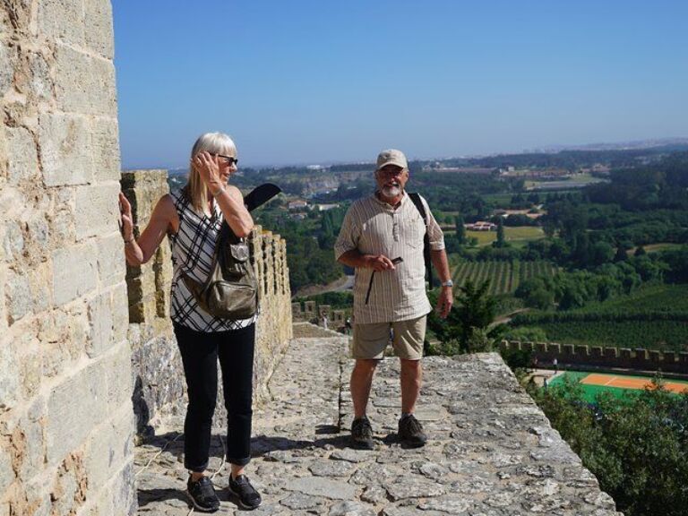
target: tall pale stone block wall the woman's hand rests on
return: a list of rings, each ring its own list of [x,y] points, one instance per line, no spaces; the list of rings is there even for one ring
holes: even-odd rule
[[[0,4],[0,514],[132,514],[107,0]]]

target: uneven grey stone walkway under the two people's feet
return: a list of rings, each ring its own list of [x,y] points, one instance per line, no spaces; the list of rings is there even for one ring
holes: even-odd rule
[[[399,366],[383,361],[369,411],[375,450],[348,448],[347,346],[341,337],[296,339],[273,375],[273,400],[254,412],[248,474],[263,495],[255,515],[620,514],[495,354],[425,359],[417,417],[430,441],[417,450],[397,440]],[[170,418],[136,449],[140,515],[193,513],[181,428]],[[213,435],[219,513],[239,513],[220,469],[223,431]]]

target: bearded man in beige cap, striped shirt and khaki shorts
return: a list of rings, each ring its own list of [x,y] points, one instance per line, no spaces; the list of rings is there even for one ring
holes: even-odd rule
[[[429,236],[434,267],[442,281],[436,310],[446,317],[452,308],[452,280],[444,252],[442,229],[424,199],[426,220],[405,192],[409,165],[400,150],[383,150],[377,157],[377,190],[354,202],[347,211],[334,246],[337,260],[356,269],[354,337],[351,374],[355,446],[374,447],[373,428],[366,407],[375,366],[392,346],[401,361],[401,417],[399,435],[409,446],[423,446],[427,437],[414,417],[422,379],[420,359],[426,336],[426,315],[432,306],[426,296],[424,236]]]

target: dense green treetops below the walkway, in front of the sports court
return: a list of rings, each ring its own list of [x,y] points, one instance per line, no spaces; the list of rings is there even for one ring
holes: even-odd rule
[[[619,400],[606,393],[594,404],[580,384],[530,395],[628,516],[680,516],[688,506],[688,393],[671,394],[655,380]]]

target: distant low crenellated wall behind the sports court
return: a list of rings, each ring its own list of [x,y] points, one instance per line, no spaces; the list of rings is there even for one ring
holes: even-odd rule
[[[529,351],[532,357],[538,358],[538,364],[542,366],[551,364],[556,358],[559,364],[568,366],[596,366],[688,374],[688,353],[686,352],[573,346],[554,342],[519,342],[517,340],[503,340],[501,348]]]

